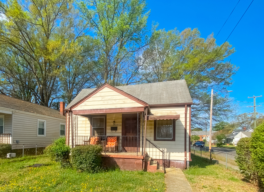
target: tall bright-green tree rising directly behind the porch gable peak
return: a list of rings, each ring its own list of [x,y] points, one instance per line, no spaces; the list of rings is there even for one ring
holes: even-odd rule
[[[81,1],[83,19],[92,27],[99,44],[100,64],[97,83],[128,85],[138,82],[142,68],[141,50],[146,46],[147,19],[145,0]]]

